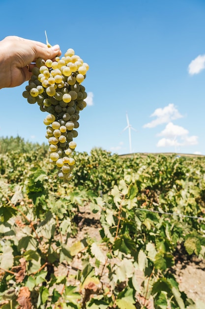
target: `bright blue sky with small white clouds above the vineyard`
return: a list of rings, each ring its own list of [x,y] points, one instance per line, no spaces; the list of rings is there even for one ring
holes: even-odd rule
[[[49,4],[46,4],[49,3]],[[89,64],[76,151],[205,154],[205,0],[0,0],[0,39],[73,48]],[[0,136],[47,143],[45,114],[0,89]]]

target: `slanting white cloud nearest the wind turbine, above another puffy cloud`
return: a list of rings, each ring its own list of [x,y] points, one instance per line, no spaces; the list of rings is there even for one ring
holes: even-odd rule
[[[154,113],[151,114],[150,117],[156,117],[156,119],[146,123],[143,126],[144,128],[153,128],[159,124],[168,123],[171,120],[178,119],[183,116],[178,112],[174,104],[169,104],[168,106],[165,106],[163,109],[162,108],[156,109]]]

